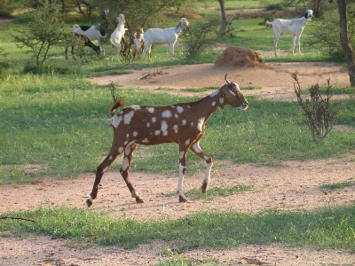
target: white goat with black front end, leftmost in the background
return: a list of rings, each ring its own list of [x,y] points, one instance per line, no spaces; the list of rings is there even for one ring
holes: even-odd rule
[[[106,36],[106,27],[108,25],[107,21],[108,8],[106,8],[102,13],[100,18],[104,20],[104,23],[97,26],[79,26],[75,24],[73,26],[73,31],[79,35],[85,35],[90,41],[99,41],[99,47],[101,51],[105,51],[104,48],[104,38]]]

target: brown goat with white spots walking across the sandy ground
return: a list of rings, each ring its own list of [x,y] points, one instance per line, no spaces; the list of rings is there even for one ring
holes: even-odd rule
[[[248,101],[237,83],[229,82],[196,102],[181,103],[172,106],[130,106],[122,109],[118,114],[115,109],[123,106],[123,99],[119,99],[111,107],[111,125],[114,128],[114,140],[111,151],[105,160],[96,169],[95,183],[92,188],[90,198],[86,200],[90,207],[93,200],[98,196],[101,177],[106,169],[124,152],[122,168],[120,172],[126,182],[132,198],[136,198],[137,203],[144,201],[134,189],[130,182],[130,161],[137,145],[159,145],[163,143],[177,143],[179,145],[180,166],[177,183],[177,193],[180,202],[185,202],[183,192],[183,180],[186,166],[186,153],[190,149],[207,163],[206,174],[201,187],[205,193],[209,186],[210,171],[212,168],[212,158],[203,153],[200,147],[200,139],[205,129],[206,121],[217,108],[223,109],[225,105],[241,108],[248,108]]]

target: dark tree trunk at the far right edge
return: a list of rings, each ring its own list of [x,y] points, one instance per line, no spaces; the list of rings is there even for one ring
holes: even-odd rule
[[[342,44],[346,63],[348,66],[348,74],[350,77],[351,87],[355,87],[355,53],[352,50],[351,43],[348,38],[348,16],[346,0],[336,0],[338,12],[340,16],[340,43]]]

